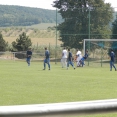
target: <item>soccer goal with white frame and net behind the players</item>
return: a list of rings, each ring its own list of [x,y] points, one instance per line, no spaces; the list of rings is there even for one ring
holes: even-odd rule
[[[89,52],[87,59],[90,66],[107,66],[109,64],[110,49],[117,52],[117,39],[84,39],[84,53]]]

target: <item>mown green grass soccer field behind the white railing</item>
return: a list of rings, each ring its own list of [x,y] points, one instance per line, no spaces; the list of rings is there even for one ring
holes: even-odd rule
[[[109,71],[109,63],[104,67],[86,65],[75,70],[70,66],[66,70],[58,62],[51,63],[50,71],[42,69],[43,62],[27,66],[25,61],[0,60],[0,105],[117,98],[117,71]],[[95,117],[117,117],[117,114]]]

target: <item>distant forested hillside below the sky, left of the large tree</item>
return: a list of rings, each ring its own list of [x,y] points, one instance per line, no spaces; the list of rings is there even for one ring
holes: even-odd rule
[[[57,14],[57,22],[62,17]],[[0,5],[0,27],[7,26],[30,26],[39,23],[55,23],[56,10],[41,8]]]

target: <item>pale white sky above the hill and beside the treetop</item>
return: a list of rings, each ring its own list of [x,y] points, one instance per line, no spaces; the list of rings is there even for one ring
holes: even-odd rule
[[[43,8],[43,9],[52,9],[53,1],[55,0],[1,0],[1,5],[18,5],[18,6],[26,6],[26,7],[35,7],[35,8]],[[112,7],[117,7],[117,0],[105,0],[106,3],[111,3]],[[117,9],[117,8],[116,8]]]

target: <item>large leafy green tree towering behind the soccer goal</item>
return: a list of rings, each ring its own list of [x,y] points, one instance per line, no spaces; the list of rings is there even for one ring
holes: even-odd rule
[[[57,27],[63,46],[82,48],[83,39],[113,38],[109,23],[114,10],[104,0],[56,0],[53,6],[64,19]]]

